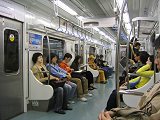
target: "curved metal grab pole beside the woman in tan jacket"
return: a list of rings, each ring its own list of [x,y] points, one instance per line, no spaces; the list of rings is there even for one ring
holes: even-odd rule
[[[48,57],[49,57],[49,76],[48,76],[48,85],[50,81],[50,75],[51,75],[51,54],[50,54],[50,43],[49,43],[49,37],[48,37],[48,32],[46,30],[46,36],[47,36],[47,44],[48,44]]]

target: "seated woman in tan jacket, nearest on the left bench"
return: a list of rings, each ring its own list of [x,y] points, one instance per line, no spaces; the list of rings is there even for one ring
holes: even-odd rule
[[[43,84],[48,83],[48,71],[43,64],[43,57],[41,53],[34,53],[32,57],[34,66],[32,67],[33,74]],[[46,71],[46,72],[45,72]],[[59,78],[50,75],[50,80],[59,80]],[[55,96],[55,106],[54,111],[59,114],[65,114],[65,111],[62,108],[67,108],[67,101],[63,99],[66,94],[62,87],[54,89]]]

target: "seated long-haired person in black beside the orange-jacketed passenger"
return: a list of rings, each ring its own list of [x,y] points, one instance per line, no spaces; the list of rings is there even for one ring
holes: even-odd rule
[[[79,71],[80,70],[80,64],[81,64],[81,59],[82,57],[77,55],[74,59],[74,61],[71,64],[71,68],[74,69],[74,71]],[[88,89],[93,90],[95,87],[93,86],[93,75],[90,71],[82,71],[80,73],[71,73],[72,77],[78,77],[80,79],[83,79],[83,77],[87,78],[88,80]]]

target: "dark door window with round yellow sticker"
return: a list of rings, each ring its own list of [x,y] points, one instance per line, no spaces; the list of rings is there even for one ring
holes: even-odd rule
[[[4,30],[4,72],[16,73],[19,70],[19,36],[11,29]]]

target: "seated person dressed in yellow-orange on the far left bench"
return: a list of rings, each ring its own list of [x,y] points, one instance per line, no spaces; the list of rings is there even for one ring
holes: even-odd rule
[[[107,81],[106,81],[106,78],[105,78],[105,75],[104,75],[104,71],[99,69],[99,67],[95,64],[94,59],[95,59],[95,57],[93,55],[90,55],[89,59],[88,59],[88,65],[92,69],[99,71],[99,76],[98,76],[97,82],[98,83],[106,83]]]

